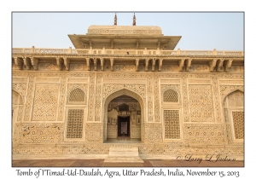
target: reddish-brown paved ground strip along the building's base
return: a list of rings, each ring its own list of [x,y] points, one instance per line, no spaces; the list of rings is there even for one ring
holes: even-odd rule
[[[14,159],[13,167],[243,167],[244,161],[189,162],[173,159],[143,159],[144,163],[104,163],[104,159]]]

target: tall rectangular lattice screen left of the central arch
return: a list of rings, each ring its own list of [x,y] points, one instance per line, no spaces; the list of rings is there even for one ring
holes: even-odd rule
[[[69,109],[67,118],[67,138],[82,138],[84,109]]]

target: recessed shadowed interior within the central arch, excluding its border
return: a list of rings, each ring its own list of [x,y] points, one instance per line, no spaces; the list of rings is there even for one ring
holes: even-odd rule
[[[107,105],[107,104],[106,104]],[[108,103],[107,141],[141,141],[141,105],[129,95]]]

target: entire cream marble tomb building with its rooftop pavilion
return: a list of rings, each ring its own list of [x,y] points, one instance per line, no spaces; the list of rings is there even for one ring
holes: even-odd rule
[[[68,37],[12,49],[13,159],[243,160],[242,51],[174,50],[181,36],[135,16]]]

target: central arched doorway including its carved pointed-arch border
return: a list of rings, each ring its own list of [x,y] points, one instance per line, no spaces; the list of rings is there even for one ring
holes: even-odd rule
[[[131,90],[119,90],[104,102],[104,142],[143,141],[143,99]]]

